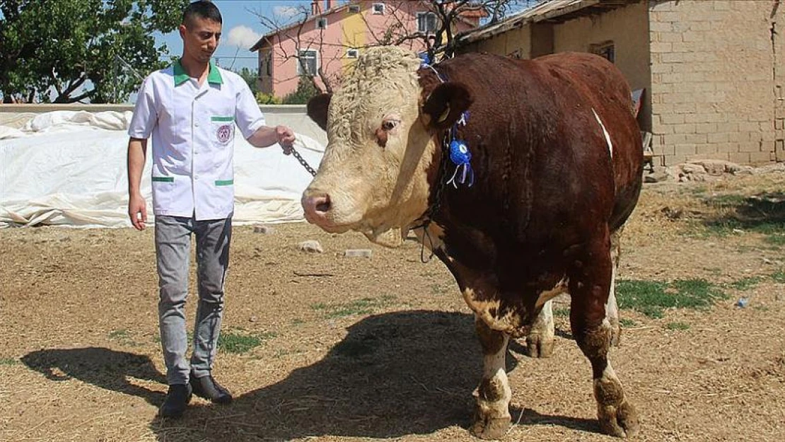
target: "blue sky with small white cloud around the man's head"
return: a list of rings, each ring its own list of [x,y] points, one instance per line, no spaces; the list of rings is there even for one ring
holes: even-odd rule
[[[215,52],[217,63],[223,68],[256,69],[256,53],[248,50],[269,29],[261,24],[255,13],[271,20],[285,22],[298,8],[310,8],[311,0],[213,0],[224,19],[221,43]],[[340,2],[342,3],[342,2]],[[177,31],[155,35],[156,42],[166,43],[173,55],[182,52],[182,40]]]

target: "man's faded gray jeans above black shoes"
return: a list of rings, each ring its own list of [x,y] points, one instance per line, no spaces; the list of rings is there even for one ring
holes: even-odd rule
[[[199,306],[189,364],[185,359],[188,350],[185,298],[188,296],[192,233],[196,239]],[[210,221],[195,221],[192,217],[155,217],[159,327],[169,385],[187,384],[190,372],[196,378],[210,374],[221,333],[231,239],[231,217]]]

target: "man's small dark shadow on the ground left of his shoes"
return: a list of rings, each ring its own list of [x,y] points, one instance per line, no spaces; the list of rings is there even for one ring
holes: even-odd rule
[[[87,347],[42,349],[27,353],[21,360],[51,381],[76,378],[102,389],[142,397],[156,407],[163,403],[165,396],[164,393],[133,385],[129,381],[129,378],[137,378],[166,385],[166,377],[155,369],[148,356],[103,347]]]

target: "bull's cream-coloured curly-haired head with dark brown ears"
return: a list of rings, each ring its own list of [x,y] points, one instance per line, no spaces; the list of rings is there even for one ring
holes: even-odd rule
[[[420,63],[396,46],[367,49],[341,89],[309,101],[309,116],[328,141],[302,196],[309,222],[387,243],[385,234],[406,232],[425,213],[436,131],[451,126],[470,99],[465,87],[449,82],[423,90]],[[423,75],[436,79],[432,71]]]

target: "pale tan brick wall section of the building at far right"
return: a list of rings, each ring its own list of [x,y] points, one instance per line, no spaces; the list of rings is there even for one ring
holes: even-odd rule
[[[775,4],[649,2],[652,132],[660,164],[775,159],[785,116],[775,60],[783,35],[772,38],[772,22],[785,24],[785,8]]]

